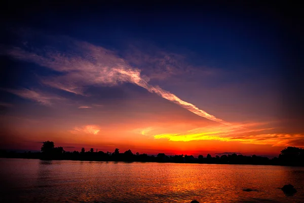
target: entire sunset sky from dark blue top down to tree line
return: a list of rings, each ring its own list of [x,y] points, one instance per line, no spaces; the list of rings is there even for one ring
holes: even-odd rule
[[[277,156],[304,147],[299,9],[8,3],[0,148]]]

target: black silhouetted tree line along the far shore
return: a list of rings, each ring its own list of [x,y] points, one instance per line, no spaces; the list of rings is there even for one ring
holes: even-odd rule
[[[212,157],[199,155],[174,155],[167,156],[159,153],[157,156],[145,153],[133,153],[130,149],[121,153],[118,148],[114,152],[94,151],[93,148],[86,151],[68,152],[63,147],[55,147],[54,142],[46,141],[41,147],[41,152],[7,152],[0,150],[0,157],[6,158],[37,158],[43,160],[87,160],[87,161],[125,161],[125,162],[172,162],[172,163],[218,163],[218,164],[256,164],[256,165],[291,165],[304,166],[304,149],[297,147],[284,148],[278,157],[272,159],[262,156],[245,156],[242,154],[227,154]]]

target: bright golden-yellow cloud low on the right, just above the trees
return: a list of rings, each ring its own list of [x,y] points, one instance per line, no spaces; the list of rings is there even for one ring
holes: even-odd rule
[[[173,142],[217,140],[271,146],[304,146],[304,142],[301,142],[304,140],[304,134],[270,133],[274,128],[263,128],[261,125],[262,123],[232,126],[206,126],[203,128],[187,130],[182,133],[156,134],[154,138],[167,139]]]

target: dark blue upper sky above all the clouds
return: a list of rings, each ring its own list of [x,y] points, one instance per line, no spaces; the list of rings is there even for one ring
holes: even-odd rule
[[[19,28],[65,35],[119,52],[130,44],[145,42],[141,49],[153,44],[184,54],[195,65],[251,70],[249,74],[236,71],[216,83],[272,77],[278,85],[290,86],[286,91],[302,90],[297,89],[300,81],[296,70],[303,59],[296,5],[112,1],[92,6],[40,1],[9,3],[8,8],[4,44],[18,43],[20,36],[14,37],[12,30]]]

